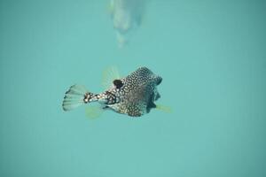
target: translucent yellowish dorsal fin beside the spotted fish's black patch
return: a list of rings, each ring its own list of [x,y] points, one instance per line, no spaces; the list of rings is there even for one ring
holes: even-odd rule
[[[109,89],[114,80],[121,79],[120,73],[116,66],[109,66],[103,71],[102,86],[104,89]]]

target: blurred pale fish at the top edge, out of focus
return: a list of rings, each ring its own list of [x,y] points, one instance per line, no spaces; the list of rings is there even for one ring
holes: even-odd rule
[[[120,48],[129,42],[131,32],[141,25],[145,2],[146,0],[110,0],[109,12]]]

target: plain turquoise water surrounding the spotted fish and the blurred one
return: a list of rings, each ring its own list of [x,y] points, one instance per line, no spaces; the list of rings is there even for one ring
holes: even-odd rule
[[[266,4],[150,1],[117,47],[107,1],[0,2],[0,176],[265,176]],[[63,112],[74,83],[145,65],[159,104],[131,119]]]

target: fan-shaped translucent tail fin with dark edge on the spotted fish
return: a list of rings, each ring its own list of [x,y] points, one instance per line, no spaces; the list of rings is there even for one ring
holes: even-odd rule
[[[84,97],[90,92],[82,85],[73,85],[67,91],[63,100],[63,110],[71,111],[76,107],[86,104]]]

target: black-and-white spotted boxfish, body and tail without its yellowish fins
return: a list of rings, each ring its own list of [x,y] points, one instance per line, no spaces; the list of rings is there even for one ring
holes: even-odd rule
[[[91,93],[82,85],[71,86],[64,96],[63,110],[67,112],[82,104],[96,102],[101,111],[112,110],[130,117],[140,117],[153,108],[163,109],[155,104],[160,98],[157,86],[162,78],[159,75],[145,66],[137,68],[126,77],[117,75],[109,88],[98,94]]]

